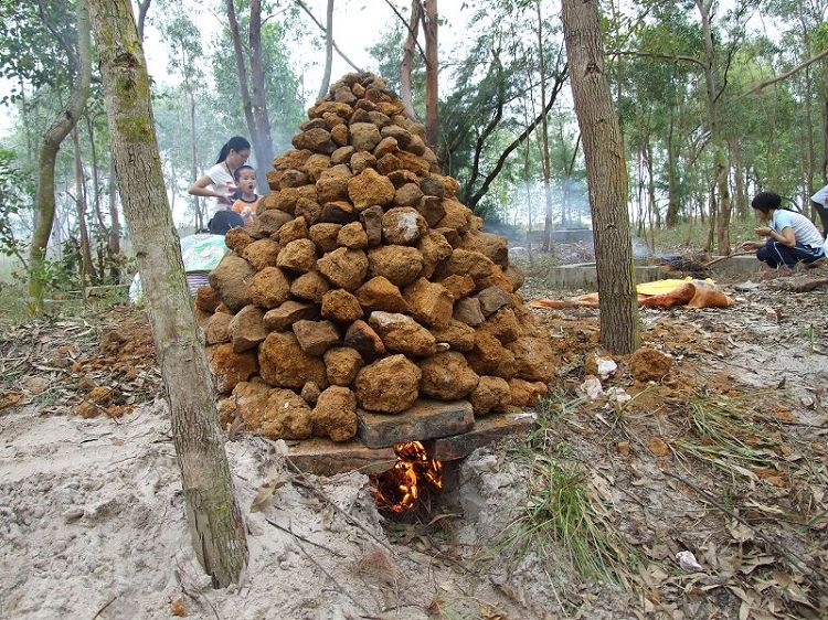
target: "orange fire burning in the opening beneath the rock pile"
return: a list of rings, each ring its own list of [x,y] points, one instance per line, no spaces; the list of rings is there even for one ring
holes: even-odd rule
[[[394,443],[394,467],[370,477],[380,510],[396,513],[411,510],[424,483],[435,491],[443,489],[443,464],[437,459],[428,458],[420,441]]]

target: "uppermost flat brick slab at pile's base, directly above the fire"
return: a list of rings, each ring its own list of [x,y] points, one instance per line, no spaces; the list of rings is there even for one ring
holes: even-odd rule
[[[423,441],[471,430],[475,415],[471,403],[444,403],[418,398],[402,414],[374,414],[357,410],[357,436],[369,448],[385,448],[401,441]]]

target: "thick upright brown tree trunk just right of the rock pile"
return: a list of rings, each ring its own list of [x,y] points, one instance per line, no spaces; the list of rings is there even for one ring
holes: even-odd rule
[[[594,0],[563,0],[562,14],[592,206],[601,344],[626,354],[640,344],[638,301],[627,211],[627,167],[604,71],[598,7]]]

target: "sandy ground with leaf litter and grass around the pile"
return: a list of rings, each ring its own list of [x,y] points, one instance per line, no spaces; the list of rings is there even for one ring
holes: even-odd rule
[[[404,520],[365,475],[297,475],[240,435],[251,560],[224,591],[190,550],[144,314],[4,329],[0,618],[824,618],[826,288],[783,280],[643,310],[665,354],[643,363],[602,354],[597,310],[535,310],[559,354],[538,430],[449,466]]]

